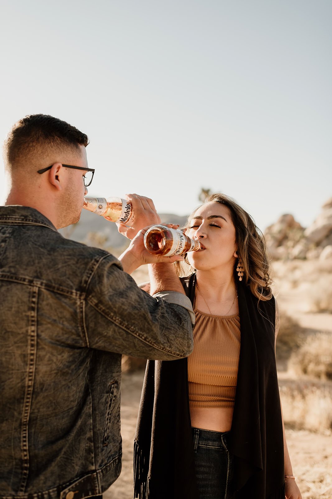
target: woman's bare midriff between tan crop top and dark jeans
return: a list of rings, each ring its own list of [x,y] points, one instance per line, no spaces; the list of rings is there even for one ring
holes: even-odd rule
[[[232,408],[190,408],[191,426],[202,430],[228,432],[232,424]]]

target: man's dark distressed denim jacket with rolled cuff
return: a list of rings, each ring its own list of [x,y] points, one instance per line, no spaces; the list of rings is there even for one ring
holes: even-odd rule
[[[102,494],[121,468],[121,354],[189,355],[188,311],[20,206],[0,207],[0,297],[0,498]]]

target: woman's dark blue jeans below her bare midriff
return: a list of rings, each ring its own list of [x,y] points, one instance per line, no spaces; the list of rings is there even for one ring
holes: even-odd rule
[[[200,499],[227,499],[232,478],[232,459],[227,448],[229,432],[192,428],[195,471]]]

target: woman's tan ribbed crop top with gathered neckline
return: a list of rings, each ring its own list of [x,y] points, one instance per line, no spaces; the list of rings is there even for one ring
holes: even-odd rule
[[[194,349],[188,357],[190,407],[232,408],[240,355],[240,317],[194,312]]]

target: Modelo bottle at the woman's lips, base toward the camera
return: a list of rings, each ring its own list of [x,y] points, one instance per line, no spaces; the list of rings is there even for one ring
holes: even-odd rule
[[[144,235],[144,246],[151,254],[173,256],[201,249],[198,239],[191,239],[179,229],[154,225]]]

